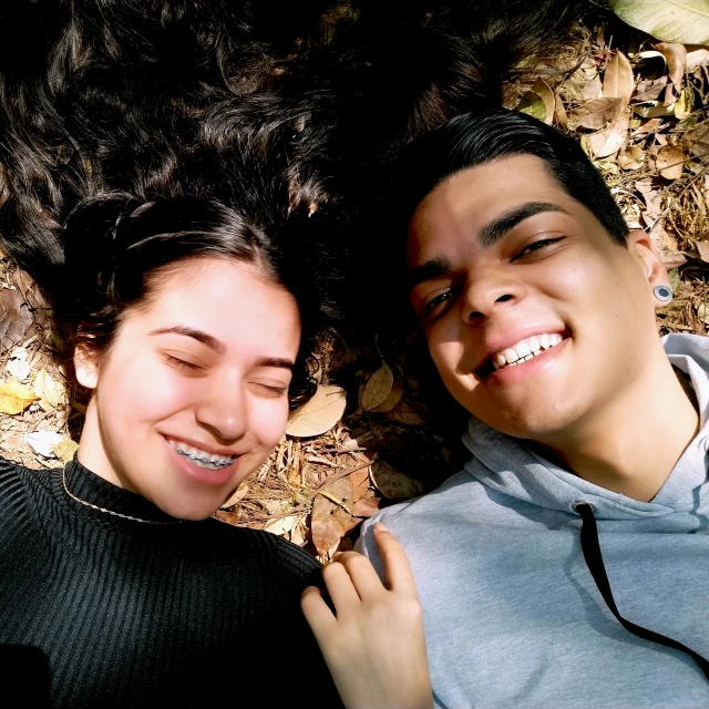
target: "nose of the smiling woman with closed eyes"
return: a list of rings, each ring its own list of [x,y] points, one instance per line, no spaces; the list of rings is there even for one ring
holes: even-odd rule
[[[218,439],[236,441],[248,431],[248,407],[245,383],[235,376],[219,377],[205,387],[196,417]]]

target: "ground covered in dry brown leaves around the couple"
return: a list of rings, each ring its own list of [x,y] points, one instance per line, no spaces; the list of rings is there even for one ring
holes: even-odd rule
[[[580,135],[623,213],[669,269],[675,298],[661,333],[709,323],[709,50],[662,43],[620,23],[579,31],[554,66],[510,86],[507,105]],[[56,467],[75,450],[85,399],[56,363],[61,349],[29,277],[0,261],[0,454]],[[459,430],[421,378],[420,338],[380,351],[333,335],[321,387],[267,463],[217,516],[265,528],[326,561],[349,548],[380,506],[425,492],[463,460]],[[459,412],[453,412],[460,422]]]

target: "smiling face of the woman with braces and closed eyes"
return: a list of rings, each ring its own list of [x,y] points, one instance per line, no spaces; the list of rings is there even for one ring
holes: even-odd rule
[[[299,342],[294,297],[255,266],[166,270],[106,352],[74,357],[93,389],[79,460],[174,517],[208,517],[282,436]]]

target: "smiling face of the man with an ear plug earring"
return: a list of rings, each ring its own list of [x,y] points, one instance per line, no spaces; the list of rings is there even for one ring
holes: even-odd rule
[[[445,386],[504,433],[578,434],[648,374],[664,267],[643,232],[613,242],[535,156],[444,181],[417,208],[407,256]]]

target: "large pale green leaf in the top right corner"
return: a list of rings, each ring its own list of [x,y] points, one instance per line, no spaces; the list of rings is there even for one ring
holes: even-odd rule
[[[665,42],[709,44],[709,0],[610,0],[630,27]]]

